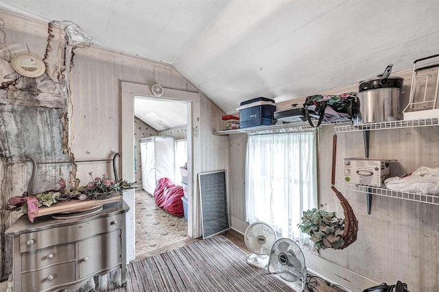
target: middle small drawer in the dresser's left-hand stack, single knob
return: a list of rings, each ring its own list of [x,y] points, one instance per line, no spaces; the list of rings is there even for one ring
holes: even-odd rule
[[[73,259],[75,259],[75,243],[55,245],[21,254],[21,270],[37,269]]]

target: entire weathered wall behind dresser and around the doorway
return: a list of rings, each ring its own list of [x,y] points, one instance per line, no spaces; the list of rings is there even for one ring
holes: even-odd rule
[[[186,92],[197,90],[167,64],[99,47],[67,44],[62,27],[9,12],[0,12],[0,38],[0,76],[3,78],[0,88],[0,256],[3,258],[0,278],[3,280],[12,267],[9,252],[12,245],[4,230],[16,219],[3,207],[11,196],[19,196],[27,189],[32,171],[25,155],[45,162],[84,161],[108,159],[121,152],[121,81],[160,83],[164,88]],[[13,72],[10,66],[13,53],[27,51],[27,48],[45,58],[47,74],[43,77],[27,79]],[[224,169],[227,142],[218,144],[215,141],[222,139],[212,135],[213,124],[220,120],[222,112],[204,96],[200,101],[202,114],[198,105],[197,111],[193,111],[196,116],[191,134],[196,149],[200,149],[201,144],[207,145],[196,150],[194,156],[198,164],[194,169],[197,172]],[[222,156],[217,157],[217,152]],[[121,165],[117,168],[121,170]],[[112,165],[106,162],[38,165],[36,191],[54,187],[59,178],[66,179],[67,183],[86,184],[90,171],[97,175],[112,174]],[[199,216],[198,207],[194,206],[195,216]],[[199,230],[194,229],[193,234],[199,236]],[[134,237],[134,230],[130,236]]]

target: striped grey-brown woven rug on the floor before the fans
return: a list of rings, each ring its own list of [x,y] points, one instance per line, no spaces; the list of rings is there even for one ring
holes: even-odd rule
[[[246,253],[211,237],[128,265],[127,291],[294,291],[246,262]]]

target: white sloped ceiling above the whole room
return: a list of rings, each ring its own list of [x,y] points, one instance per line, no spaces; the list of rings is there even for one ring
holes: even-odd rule
[[[439,52],[437,0],[3,0],[72,21],[104,47],[170,63],[228,114],[285,101]]]

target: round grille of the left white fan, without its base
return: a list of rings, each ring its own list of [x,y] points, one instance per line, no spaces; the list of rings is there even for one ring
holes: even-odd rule
[[[254,254],[270,254],[276,233],[264,222],[254,222],[248,226],[244,235],[246,246]]]

